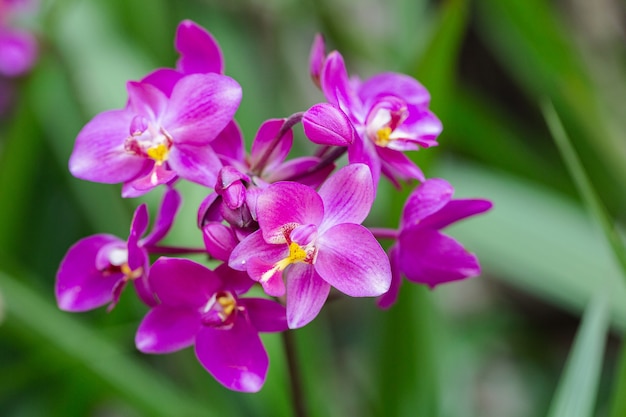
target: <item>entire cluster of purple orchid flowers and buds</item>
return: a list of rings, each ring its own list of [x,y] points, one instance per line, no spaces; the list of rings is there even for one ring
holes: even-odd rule
[[[406,156],[437,145],[442,130],[416,80],[349,77],[341,54],[326,54],[317,36],[310,71],[326,101],[265,121],[247,153],[234,121],[242,90],[224,75],[215,39],[186,20],[175,47],[175,68],[128,82],[125,107],[96,115],[78,133],[69,161],[75,177],[122,183],[123,197],[165,192],[149,233],[142,204],[128,238],[96,234],[69,249],[56,279],[61,309],[110,310],[132,283],[149,308],[135,337],[141,352],[194,346],[217,381],[255,392],[269,363],[259,333],[305,326],[331,291],[389,307],[403,277],[435,287],[479,274],[476,256],[440,230],[491,203],[453,199],[448,182],[426,179]],[[317,150],[288,159],[298,123]],[[362,224],[381,177],[419,182],[397,229]],[[184,180],[207,187],[197,216],[201,249],[161,243]],[[393,241],[388,253],[379,239]],[[172,257],[198,252],[219,266]],[[158,255],[169,256],[151,262]],[[254,286],[265,296],[248,296]]]

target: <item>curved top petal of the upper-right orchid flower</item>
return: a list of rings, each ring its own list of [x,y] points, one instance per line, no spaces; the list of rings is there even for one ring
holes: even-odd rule
[[[415,105],[428,106],[430,102],[428,90],[417,80],[393,72],[375,75],[359,88],[359,97],[366,105],[382,95],[395,95]]]

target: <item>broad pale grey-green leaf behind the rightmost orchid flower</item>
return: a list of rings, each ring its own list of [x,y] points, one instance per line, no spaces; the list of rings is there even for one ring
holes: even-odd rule
[[[493,201],[489,213],[450,227],[493,275],[550,303],[582,311],[598,288],[626,329],[626,289],[604,236],[574,201],[542,185],[459,160],[436,167],[457,197]]]

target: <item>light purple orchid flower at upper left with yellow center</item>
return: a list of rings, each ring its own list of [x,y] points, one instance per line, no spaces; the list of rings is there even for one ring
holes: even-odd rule
[[[129,82],[126,108],[96,115],[79,132],[70,157],[78,178],[124,183],[135,197],[177,177],[213,187],[222,164],[211,142],[239,106],[230,77],[191,74],[167,96],[152,84]]]

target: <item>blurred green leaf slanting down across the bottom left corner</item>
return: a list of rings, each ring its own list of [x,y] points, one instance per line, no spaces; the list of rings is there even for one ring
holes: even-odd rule
[[[150,416],[217,415],[209,402],[196,402],[164,377],[133,360],[98,331],[58,311],[32,289],[0,272],[8,320],[40,335],[72,361],[85,366]]]

